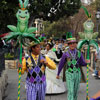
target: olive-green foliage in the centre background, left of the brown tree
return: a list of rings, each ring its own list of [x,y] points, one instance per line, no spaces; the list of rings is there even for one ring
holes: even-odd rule
[[[50,23],[49,21],[44,21],[44,31],[47,37],[62,37],[62,35],[66,35],[67,32],[71,31],[70,23],[66,17],[61,18],[59,21],[54,21]]]

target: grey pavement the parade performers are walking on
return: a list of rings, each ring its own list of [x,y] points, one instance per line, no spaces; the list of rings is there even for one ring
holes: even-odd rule
[[[86,71],[86,69],[85,69]],[[18,90],[18,73],[16,69],[8,69],[8,86],[5,91],[5,97],[3,100],[17,100]],[[89,74],[89,96],[92,97],[98,91],[100,91],[100,79],[95,79],[90,72]],[[25,77],[26,74],[21,77],[21,99],[26,100],[25,91]],[[67,92],[56,95],[46,95],[46,100],[67,100]],[[80,83],[78,100],[86,100],[86,83]]]

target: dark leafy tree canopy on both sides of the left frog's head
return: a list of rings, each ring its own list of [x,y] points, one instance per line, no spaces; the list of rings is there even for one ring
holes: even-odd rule
[[[73,15],[80,8],[80,0],[29,0],[30,26],[34,18],[43,18],[53,22],[61,17]],[[16,24],[18,0],[0,0],[0,33],[8,32],[7,25]]]

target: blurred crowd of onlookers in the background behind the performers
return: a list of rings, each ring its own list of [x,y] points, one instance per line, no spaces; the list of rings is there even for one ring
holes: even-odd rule
[[[8,43],[5,43],[4,40],[0,39],[0,48],[7,48],[6,51],[7,52],[16,52],[17,54],[19,54],[19,49],[14,49],[14,41],[10,41]],[[100,41],[98,41],[98,47],[99,47],[99,52],[100,52]],[[23,56],[27,56],[27,50],[24,50],[24,46],[23,46]],[[65,52],[68,48],[68,44],[67,41],[64,39],[45,39],[43,45],[41,45],[41,53],[46,52],[43,50],[46,50],[48,48],[52,48],[52,51],[55,52],[56,56],[58,59],[61,58],[63,52]],[[25,52],[24,52],[25,51]],[[94,73],[92,74],[93,76],[96,76],[98,78],[100,78],[100,53],[95,52],[95,69],[94,69]],[[19,56],[17,56],[19,58]]]

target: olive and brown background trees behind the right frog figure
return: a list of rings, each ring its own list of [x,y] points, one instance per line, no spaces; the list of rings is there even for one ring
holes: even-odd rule
[[[91,4],[89,6],[86,6],[89,13],[92,15],[92,21],[94,22],[94,32],[96,32],[96,5]],[[74,14],[74,16],[70,17],[63,17],[60,20],[44,24],[45,30],[44,33],[48,33],[48,36],[52,36],[52,34],[55,34],[55,36],[61,37],[63,34],[66,34],[66,32],[71,31],[73,33],[73,36],[75,36],[77,39],[79,39],[78,32],[83,32],[83,23],[87,20],[87,16],[83,9],[79,10],[79,13]],[[47,25],[47,26],[46,26]],[[100,35],[99,35],[100,37]]]

